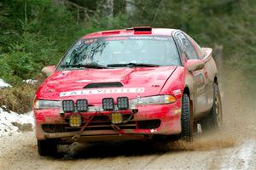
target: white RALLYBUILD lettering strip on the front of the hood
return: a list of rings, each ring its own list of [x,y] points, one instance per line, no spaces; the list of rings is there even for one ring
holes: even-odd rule
[[[90,94],[140,94],[144,93],[145,88],[101,88],[101,89],[86,89],[70,92],[61,92],[60,97],[90,95]]]

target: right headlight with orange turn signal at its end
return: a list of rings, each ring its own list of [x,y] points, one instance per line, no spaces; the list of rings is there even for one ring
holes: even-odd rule
[[[133,105],[160,105],[171,104],[176,101],[176,98],[172,95],[158,95],[145,98],[131,99]]]

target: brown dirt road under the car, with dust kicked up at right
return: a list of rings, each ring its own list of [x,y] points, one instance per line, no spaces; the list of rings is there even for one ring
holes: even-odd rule
[[[34,133],[23,133],[0,139],[0,169],[256,169],[255,99],[246,96],[242,77],[223,82],[221,133],[200,133],[190,144],[73,144],[57,157],[38,156]]]

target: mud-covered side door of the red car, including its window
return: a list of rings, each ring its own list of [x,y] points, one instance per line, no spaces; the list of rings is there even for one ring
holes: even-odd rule
[[[185,56],[184,63],[188,59],[201,59],[200,53],[196,50],[189,38],[183,32],[177,33],[177,42]],[[189,72],[194,79],[194,115],[200,116],[201,113],[207,111],[207,77],[204,73],[205,68],[199,71]]]

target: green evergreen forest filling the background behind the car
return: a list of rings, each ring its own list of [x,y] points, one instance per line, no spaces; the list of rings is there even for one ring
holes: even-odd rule
[[[70,2],[80,8],[51,0],[0,3],[0,77],[11,83],[38,77],[45,65],[56,64],[79,37],[93,31],[130,26],[181,29],[202,46],[223,45],[226,59],[235,58],[236,65],[241,65],[242,58],[242,69],[255,71],[256,3],[253,0],[130,1],[131,13],[126,11],[125,0],[113,0],[113,18],[102,10],[106,0]],[[87,9],[89,12],[84,12]]]

